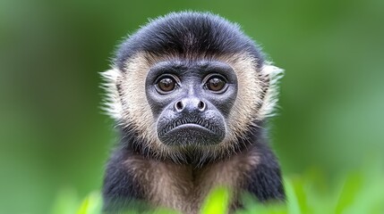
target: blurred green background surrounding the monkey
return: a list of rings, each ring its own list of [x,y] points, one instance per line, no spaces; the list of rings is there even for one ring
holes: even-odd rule
[[[384,1],[0,0],[0,213],[47,213],[98,190],[115,142],[98,72],[149,18],[238,22],[286,70],[273,148],[285,175],[329,177],[384,152]]]

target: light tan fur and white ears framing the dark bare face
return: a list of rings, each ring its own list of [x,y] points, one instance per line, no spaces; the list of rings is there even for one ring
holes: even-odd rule
[[[185,58],[185,56],[183,56]],[[149,149],[158,158],[175,155],[175,149],[169,148],[158,140],[156,121],[152,117],[145,93],[145,79],[151,66],[167,60],[183,60],[177,55],[153,56],[149,53],[137,53],[125,62],[124,70],[115,66],[102,73],[105,78],[107,99],[105,110],[121,126],[131,126],[139,138],[148,142]],[[215,60],[225,62],[235,70],[238,79],[238,94],[234,106],[226,121],[226,137],[222,143],[207,146],[203,155],[220,157],[234,151],[237,137],[243,137],[254,122],[273,114],[277,103],[277,81],[283,70],[265,62],[261,70],[257,69],[257,59],[249,53],[235,53],[209,57],[189,56],[190,60]]]

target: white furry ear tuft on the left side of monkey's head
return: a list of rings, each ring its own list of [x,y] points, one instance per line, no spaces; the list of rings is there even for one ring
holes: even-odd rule
[[[101,105],[102,111],[105,111],[112,119],[121,120],[123,118],[123,103],[119,93],[119,81],[123,73],[114,67],[110,70],[100,72],[103,83],[101,88],[105,90],[105,96]]]

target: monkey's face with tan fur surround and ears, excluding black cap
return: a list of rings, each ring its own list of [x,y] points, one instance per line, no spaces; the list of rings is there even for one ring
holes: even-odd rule
[[[276,102],[269,84],[281,70],[269,64],[259,69],[256,60],[249,53],[136,53],[124,67],[103,73],[107,111],[137,137],[127,143],[143,155],[198,163],[227,157]]]

